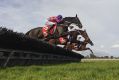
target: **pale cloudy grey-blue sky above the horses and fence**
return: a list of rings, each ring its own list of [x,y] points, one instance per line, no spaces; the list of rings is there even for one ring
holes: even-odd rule
[[[119,0],[0,0],[0,26],[26,33],[49,16],[78,15],[94,53],[119,56]],[[84,51],[89,53],[88,51]]]

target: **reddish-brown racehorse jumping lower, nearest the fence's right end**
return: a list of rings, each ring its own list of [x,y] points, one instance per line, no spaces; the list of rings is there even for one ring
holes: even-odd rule
[[[67,44],[65,47],[66,49],[69,50],[76,50],[76,51],[83,51],[83,50],[90,50],[91,53],[93,54],[93,51],[89,48],[86,47],[87,44],[90,44],[91,46],[93,46],[93,42],[91,41],[91,39],[89,38],[86,30],[76,30],[76,31],[71,31],[70,35],[73,36],[72,42],[70,44]],[[82,37],[84,37],[84,41],[80,42],[77,40],[77,36],[81,35]],[[77,47],[78,45],[80,45],[79,47]]]

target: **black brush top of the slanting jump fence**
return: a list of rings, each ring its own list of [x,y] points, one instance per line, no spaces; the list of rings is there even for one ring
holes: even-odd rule
[[[0,27],[0,48],[77,56],[74,52],[50,45],[41,40],[30,38],[23,33],[14,32],[13,30],[3,27]]]

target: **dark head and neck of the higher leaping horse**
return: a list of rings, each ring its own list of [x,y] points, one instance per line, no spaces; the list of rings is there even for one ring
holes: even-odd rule
[[[79,18],[78,18],[78,16],[77,16],[77,14],[76,14],[75,17],[65,17],[65,18],[63,18],[63,22],[64,22],[64,23],[67,23],[68,25],[74,23],[74,24],[76,24],[79,28],[82,28],[82,24],[81,24],[81,22],[80,22],[80,20],[79,20]]]

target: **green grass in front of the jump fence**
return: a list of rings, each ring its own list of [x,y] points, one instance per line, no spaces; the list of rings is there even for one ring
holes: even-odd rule
[[[119,61],[0,68],[0,80],[119,80]]]

